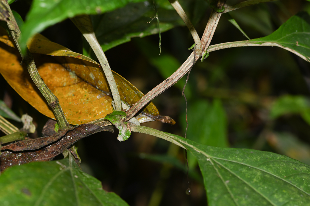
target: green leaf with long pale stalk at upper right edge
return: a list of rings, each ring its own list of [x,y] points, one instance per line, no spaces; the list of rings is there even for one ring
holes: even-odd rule
[[[277,46],[310,61],[310,16],[307,12],[299,12],[268,36],[211,45],[208,51],[242,46]]]

